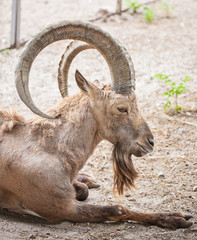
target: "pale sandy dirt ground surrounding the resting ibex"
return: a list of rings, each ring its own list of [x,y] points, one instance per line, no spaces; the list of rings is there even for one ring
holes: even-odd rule
[[[0,1],[0,49],[9,46],[11,0]],[[22,2],[21,41],[60,20],[88,20],[100,16],[100,10],[114,12],[113,0],[25,0]],[[197,1],[168,0],[174,5],[166,18],[160,3],[154,3],[155,20],[146,23],[142,14],[124,13],[94,24],[119,39],[132,56],[136,78],[138,106],[154,137],[154,151],[142,158],[133,157],[140,176],[136,189],[124,198],[112,194],[113,168],[110,162],[111,144],[103,141],[88,160],[84,172],[100,183],[90,190],[88,203],[123,204],[146,212],[183,211],[194,216],[189,229],[175,231],[137,223],[48,224],[44,220],[19,216],[0,210],[0,239],[197,239]],[[30,86],[32,97],[43,111],[60,100],[57,89],[57,66],[67,45],[52,44],[42,51],[33,64]],[[14,84],[14,68],[22,48],[0,53],[0,105],[15,108],[26,117],[33,114],[19,100]],[[69,94],[78,91],[74,71],[78,68],[89,80],[110,82],[108,67],[95,50],[80,54],[69,73]],[[177,116],[164,113],[166,86],[160,80],[150,80],[164,73],[180,80],[191,76],[190,92],[180,97],[183,112]],[[33,197],[33,196],[32,196]]]

